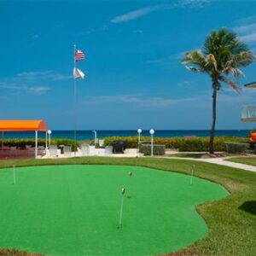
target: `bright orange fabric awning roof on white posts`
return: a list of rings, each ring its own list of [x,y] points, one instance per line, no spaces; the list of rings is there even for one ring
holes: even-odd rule
[[[47,131],[44,120],[0,120],[0,131]]]

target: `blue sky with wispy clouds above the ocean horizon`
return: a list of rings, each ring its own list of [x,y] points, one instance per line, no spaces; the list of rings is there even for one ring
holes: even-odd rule
[[[181,65],[214,29],[238,33],[256,52],[255,1],[0,2],[0,119],[44,119],[73,129],[73,44],[79,129],[209,129],[211,81]],[[241,86],[256,80],[256,63]],[[248,129],[241,106],[256,90],[218,95],[218,129]]]

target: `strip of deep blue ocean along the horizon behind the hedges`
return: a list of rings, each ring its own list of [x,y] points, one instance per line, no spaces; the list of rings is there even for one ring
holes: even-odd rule
[[[137,136],[136,130],[129,131],[96,131],[98,138],[104,137],[129,137]],[[248,130],[217,130],[216,136],[232,136],[232,137],[247,137]],[[68,138],[73,139],[73,131],[52,131],[51,138]],[[33,138],[33,132],[4,132],[4,138]],[[149,131],[145,130],[141,136],[149,136]],[[155,130],[154,137],[209,137],[208,130]],[[44,138],[44,132],[38,132],[38,137]],[[94,138],[94,133],[90,131],[77,131],[77,139],[79,141],[89,140]]]

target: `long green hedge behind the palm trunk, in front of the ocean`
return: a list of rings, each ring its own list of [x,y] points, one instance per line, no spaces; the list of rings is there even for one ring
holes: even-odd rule
[[[106,137],[105,146],[111,145],[113,141],[125,141],[126,148],[137,148],[137,137]],[[150,137],[141,137],[141,142],[148,142]],[[225,151],[226,142],[247,143],[248,139],[243,137],[215,137],[214,147],[216,151]],[[154,137],[155,144],[164,144],[166,148],[178,148],[181,152],[205,152],[209,149],[209,137]]]

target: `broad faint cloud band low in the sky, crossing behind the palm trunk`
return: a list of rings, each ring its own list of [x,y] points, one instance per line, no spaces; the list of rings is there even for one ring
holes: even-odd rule
[[[191,87],[194,82],[183,81],[177,86]],[[242,90],[241,95],[237,95],[224,85],[224,90],[218,91],[218,106],[225,108],[228,106],[244,106],[254,104],[255,92],[253,90]],[[146,109],[164,109],[164,108],[179,108],[184,105],[189,106],[212,106],[212,90],[204,90],[193,96],[181,96],[172,98],[166,96],[144,96],[138,94],[126,95],[103,95],[103,96],[87,96],[83,99],[82,104],[87,106],[102,105],[102,106],[120,106],[124,104],[135,108]],[[254,104],[255,105],[255,104]]]

